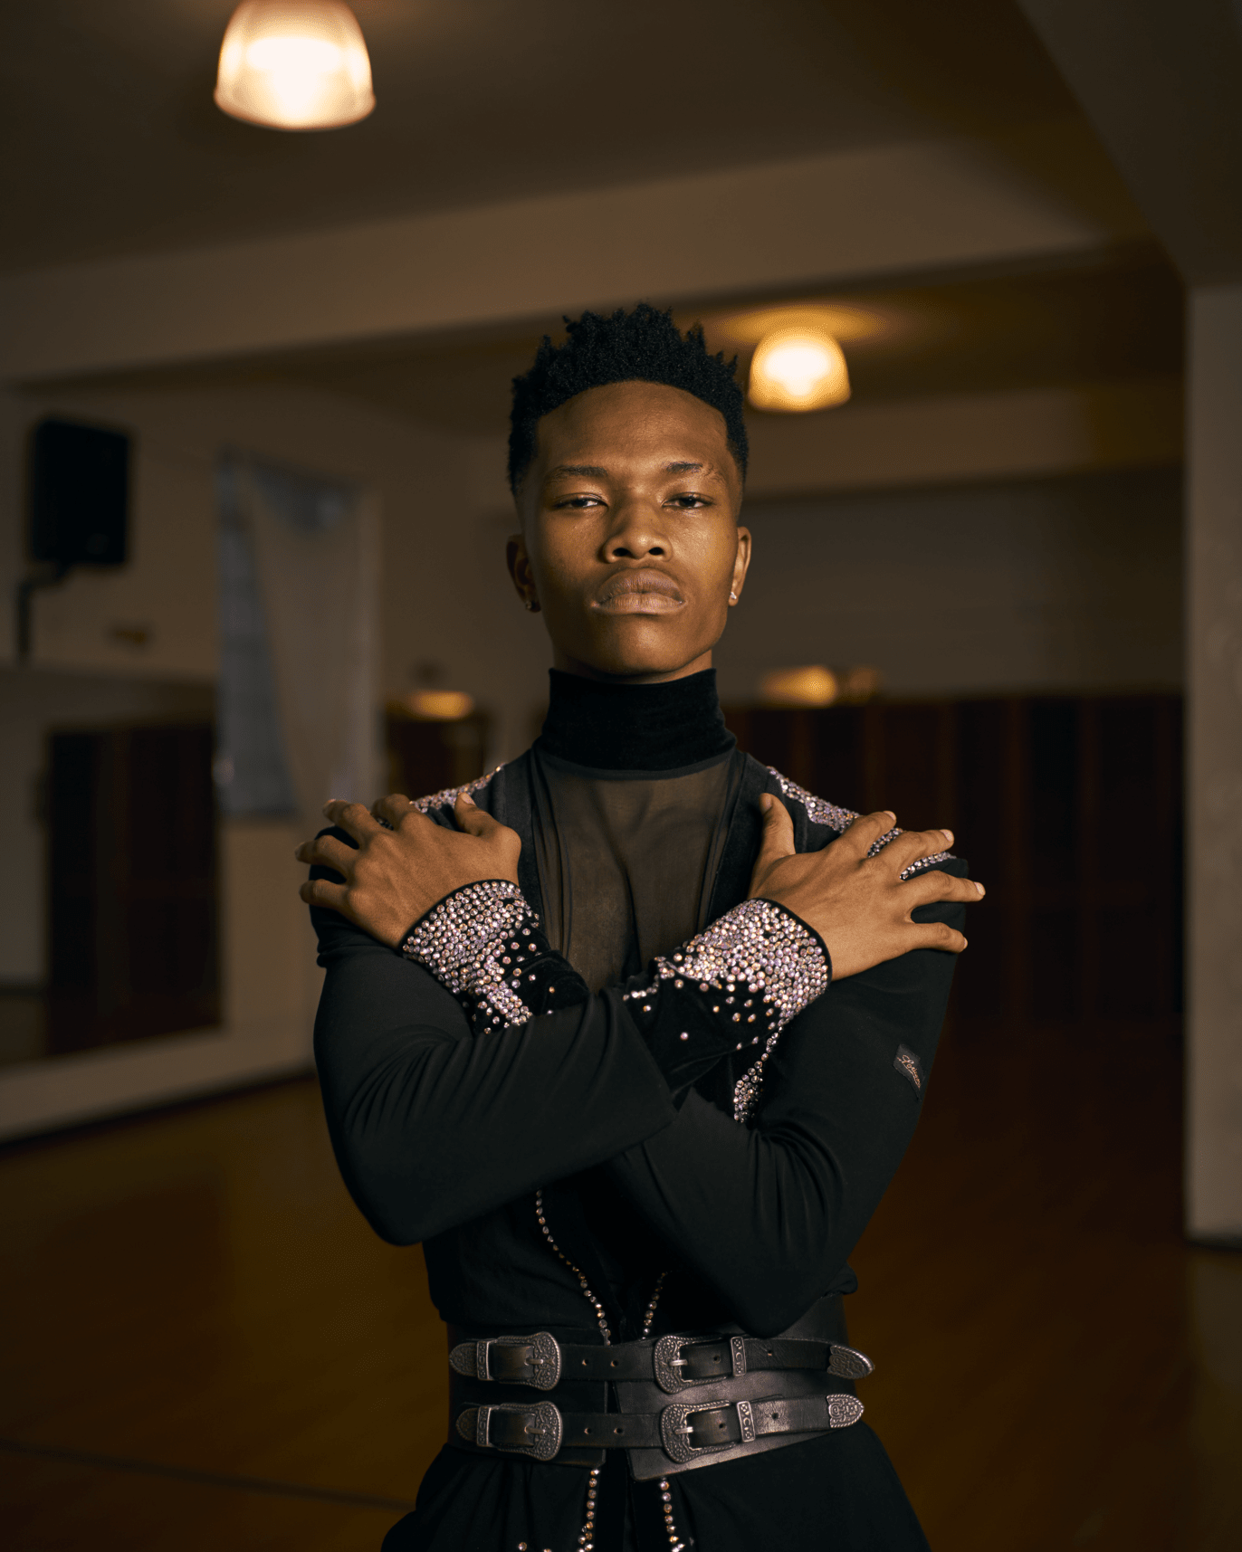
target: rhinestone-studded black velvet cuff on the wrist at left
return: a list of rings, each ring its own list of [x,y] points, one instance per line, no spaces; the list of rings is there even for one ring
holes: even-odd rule
[[[484,878],[446,896],[410,928],[401,951],[453,993],[475,1034],[525,1024],[590,995],[509,878]]]

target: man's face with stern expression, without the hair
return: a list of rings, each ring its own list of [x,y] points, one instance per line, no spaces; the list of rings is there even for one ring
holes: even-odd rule
[[[750,534],[711,405],[660,383],[590,388],[539,422],[509,570],[556,667],[635,683],[711,667]]]

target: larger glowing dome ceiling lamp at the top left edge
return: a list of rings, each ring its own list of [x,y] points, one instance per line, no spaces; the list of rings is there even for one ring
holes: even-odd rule
[[[244,0],[220,45],[216,106],[269,129],[340,129],[376,106],[362,28],[340,0]]]

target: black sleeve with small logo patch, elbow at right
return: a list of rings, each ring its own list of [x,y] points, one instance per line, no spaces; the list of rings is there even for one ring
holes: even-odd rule
[[[966,875],[953,860],[945,872]],[[961,928],[959,905],[921,922]],[[955,956],[918,950],[834,982],[772,1052],[755,1121],[692,1093],[607,1172],[643,1220],[756,1335],[831,1290],[910,1144]]]

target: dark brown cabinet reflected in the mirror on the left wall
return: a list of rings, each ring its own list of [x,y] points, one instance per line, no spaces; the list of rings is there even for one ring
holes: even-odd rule
[[[48,1051],[220,1021],[210,723],[54,733]]]

